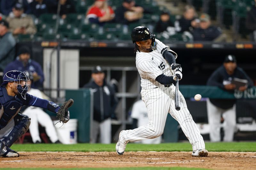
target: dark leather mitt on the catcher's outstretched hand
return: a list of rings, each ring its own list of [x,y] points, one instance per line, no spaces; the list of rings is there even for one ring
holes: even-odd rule
[[[60,106],[60,109],[56,116],[58,119],[60,119],[60,122],[67,123],[69,121],[70,116],[69,116],[68,107],[71,107],[73,103],[74,103],[74,100],[69,99],[68,101],[63,103],[62,106]]]

